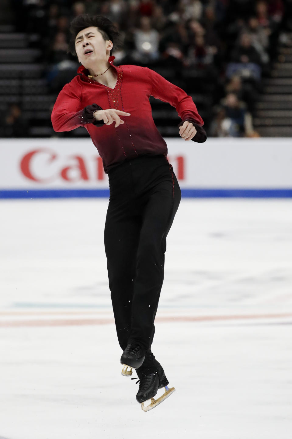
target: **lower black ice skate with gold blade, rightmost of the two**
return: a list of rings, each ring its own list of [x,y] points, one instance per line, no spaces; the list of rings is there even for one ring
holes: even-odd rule
[[[147,352],[143,365],[138,368],[136,372],[138,375],[137,383],[139,382],[139,390],[136,395],[136,399],[138,403],[142,403],[141,408],[144,411],[153,409],[175,391],[174,387],[171,389],[167,387],[169,381],[165,377],[161,364],[155,360],[155,356],[152,352]],[[131,379],[135,380],[137,378]],[[162,387],[165,387],[165,392],[159,398],[154,399],[158,389],[162,389]],[[145,406],[144,402],[148,399],[151,399],[151,403]]]

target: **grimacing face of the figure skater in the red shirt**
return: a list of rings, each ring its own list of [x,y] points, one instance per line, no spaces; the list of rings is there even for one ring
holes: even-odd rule
[[[102,34],[95,26],[90,26],[77,33],[75,38],[75,50],[78,61],[85,68],[98,65],[101,61],[107,61],[113,48],[113,42],[104,40]],[[85,54],[85,51],[90,53]]]

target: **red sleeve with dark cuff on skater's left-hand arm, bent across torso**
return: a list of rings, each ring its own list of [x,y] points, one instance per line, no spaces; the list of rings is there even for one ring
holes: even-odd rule
[[[71,131],[88,123],[95,126],[104,125],[103,120],[97,121],[93,117],[95,111],[102,110],[98,104],[87,105],[80,109],[81,87],[78,85],[77,87],[75,92],[72,85],[66,84],[57,97],[51,114],[53,129],[56,132]]]

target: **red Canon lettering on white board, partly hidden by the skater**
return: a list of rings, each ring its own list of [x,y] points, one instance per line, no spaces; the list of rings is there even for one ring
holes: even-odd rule
[[[184,179],[184,158],[168,157],[178,180]],[[21,173],[29,180],[47,184],[56,180],[77,183],[103,181],[106,175],[102,158],[82,155],[61,155],[50,148],[38,148],[26,153],[20,161]]]

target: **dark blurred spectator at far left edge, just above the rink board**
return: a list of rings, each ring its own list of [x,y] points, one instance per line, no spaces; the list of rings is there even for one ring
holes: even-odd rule
[[[28,125],[21,115],[17,104],[10,104],[8,111],[0,121],[1,137],[27,137]]]

